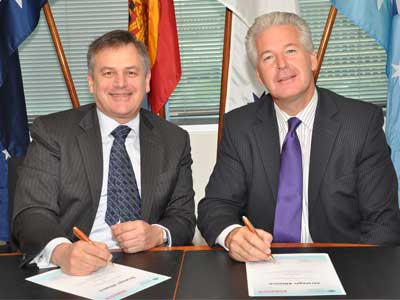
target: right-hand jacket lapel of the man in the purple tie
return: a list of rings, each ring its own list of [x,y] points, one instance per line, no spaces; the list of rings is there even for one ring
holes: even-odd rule
[[[311,141],[310,174],[308,181],[310,214],[318,202],[318,191],[340,129],[340,124],[333,119],[333,116],[337,113],[335,102],[320,90],[318,90],[318,95],[319,100]]]

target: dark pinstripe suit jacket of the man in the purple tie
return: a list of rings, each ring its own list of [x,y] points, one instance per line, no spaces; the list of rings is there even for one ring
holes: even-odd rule
[[[314,242],[400,244],[397,178],[372,104],[318,89],[309,174]],[[198,226],[212,245],[247,215],[273,232],[279,134],[272,99],[228,113],[217,163],[199,203]]]

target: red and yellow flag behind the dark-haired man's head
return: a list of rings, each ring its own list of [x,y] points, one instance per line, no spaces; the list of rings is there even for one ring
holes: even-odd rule
[[[149,51],[149,103],[158,113],[181,78],[178,33],[173,0],[129,0],[128,30]]]

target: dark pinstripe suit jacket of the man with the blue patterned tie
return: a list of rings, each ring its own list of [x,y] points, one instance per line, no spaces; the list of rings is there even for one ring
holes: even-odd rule
[[[103,177],[94,104],[40,117],[31,135],[12,222],[28,260],[55,237],[74,240],[73,226],[90,232]],[[195,216],[187,132],[141,111],[140,152],[143,219],[167,227],[174,245],[191,244]]]

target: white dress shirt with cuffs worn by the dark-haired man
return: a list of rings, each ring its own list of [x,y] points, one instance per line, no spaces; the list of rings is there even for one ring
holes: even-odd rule
[[[99,118],[101,141],[103,147],[103,178],[102,188],[100,194],[99,207],[96,212],[92,231],[90,232],[89,238],[93,241],[101,241],[107,244],[109,249],[119,249],[117,242],[112,237],[112,231],[110,226],[105,222],[105,215],[107,211],[107,188],[108,188],[108,169],[110,161],[111,147],[114,141],[114,137],[111,132],[117,128],[119,124],[114,119],[106,116],[103,112],[97,109],[97,116]],[[140,172],[140,135],[139,135],[139,123],[140,114],[124,124],[131,128],[128,136],[125,140],[126,151],[128,152],[129,158],[132,163],[133,171],[135,172],[135,178],[138,185],[139,194],[141,195],[141,172]],[[171,246],[172,239],[168,228],[159,224],[153,224],[159,226],[165,230],[167,234],[168,246]],[[51,255],[55,247],[62,243],[71,243],[66,238],[60,237],[51,240],[46,247],[37,255],[32,262],[36,263],[39,268],[49,268],[55,265],[50,263]]]

